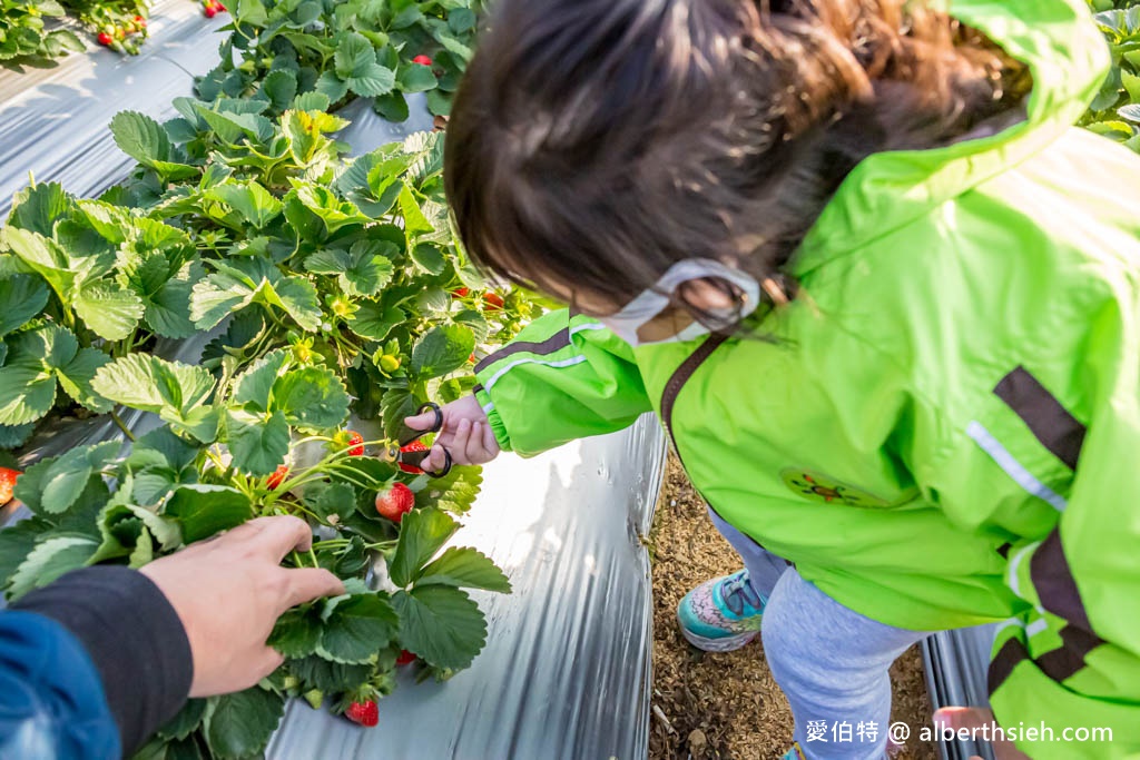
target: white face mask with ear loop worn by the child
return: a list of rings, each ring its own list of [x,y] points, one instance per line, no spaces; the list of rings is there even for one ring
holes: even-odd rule
[[[760,286],[754,277],[739,269],[725,267],[712,259],[685,259],[670,267],[653,287],[644,291],[621,311],[609,317],[598,317],[598,321],[633,346],[649,343],[681,343],[706,335],[709,333],[709,328],[699,321],[693,321],[674,335],[652,341],[642,340],[637,332],[665,311],[669,305],[670,295],[678,286],[689,280],[708,277],[727,280],[740,288],[742,293],[741,308],[739,312],[733,309],[734,316],[744,318],[756,311],[760,302]]]

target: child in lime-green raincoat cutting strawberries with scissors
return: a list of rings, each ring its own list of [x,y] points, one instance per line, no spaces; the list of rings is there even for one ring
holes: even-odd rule
[[[996,718],[1058,737],[1018,747],[1135,757],[1140,161],[1069,126],[1107,62],[1083,0],[920,5],[499,0],[448,193],[478,263],[571,308],[439,443],[656,411],[743,558],[682,630],[763,630],[788,758],[883,757],[890,663],[1003,619]]]

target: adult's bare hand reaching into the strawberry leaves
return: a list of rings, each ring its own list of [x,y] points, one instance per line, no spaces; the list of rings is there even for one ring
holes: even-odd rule
[[[312,531],[296,517],[260,517],[145,565],[178,613],[194,657],[190,696],[239,692],[284,660],[266,645],[290,607],[344,593],[327,570],[285,569],[293,549],[307,550]]]

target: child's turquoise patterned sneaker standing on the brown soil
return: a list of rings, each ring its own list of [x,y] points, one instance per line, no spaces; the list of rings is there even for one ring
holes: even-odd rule
[[[689,643],[706,652],[731,652],[760,632],[765,599],[748,582],[748,571],[705,581],[677,605],[677,622]]]

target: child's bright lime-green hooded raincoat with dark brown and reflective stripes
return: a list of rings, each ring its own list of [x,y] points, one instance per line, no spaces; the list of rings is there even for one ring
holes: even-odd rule
[[[997,720],[1056,737],[1023,751],[1140,757],[1140,158],[1072,126],[1108,63],[1082,0],[951,11],[1029,65],[1027,120],[862,162],[759,324],[777,342],[635,350],[559,311],[477,395],[523,456],[656,411],[710,506],[844,605],[1005,620]]]

